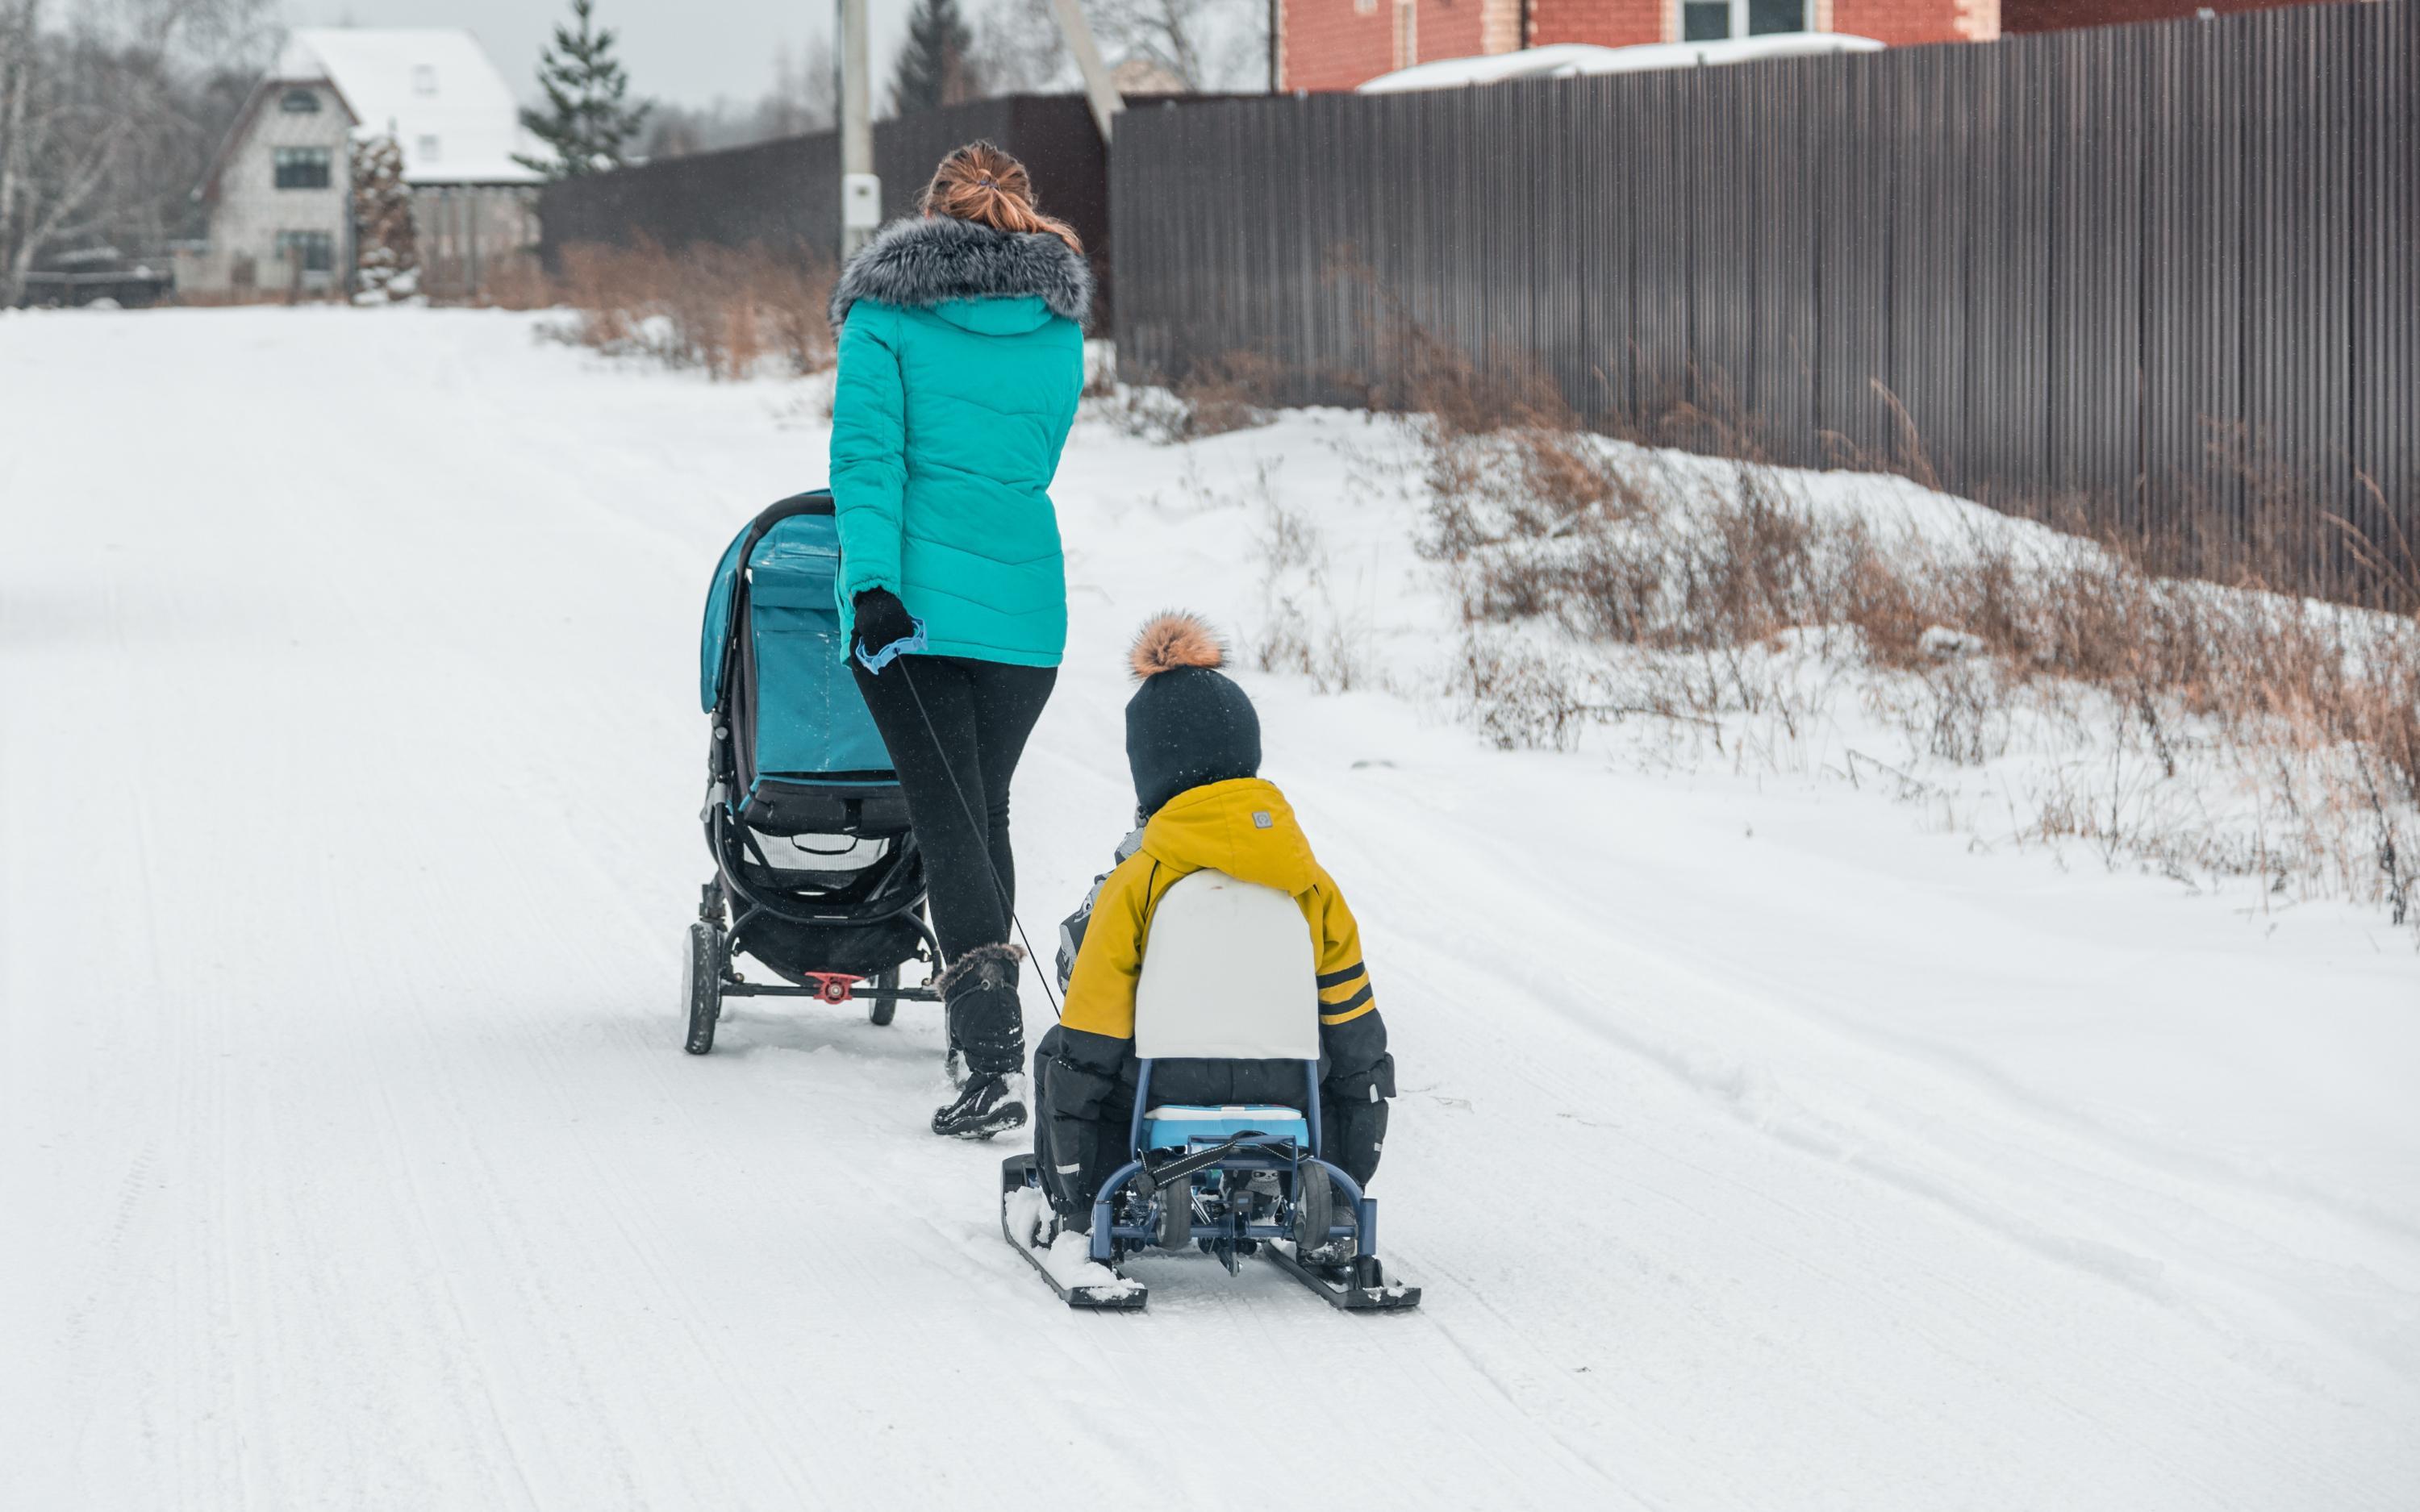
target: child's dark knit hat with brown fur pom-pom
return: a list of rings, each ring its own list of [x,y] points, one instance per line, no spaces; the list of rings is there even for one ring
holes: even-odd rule
[[[1261,774],[1261,716],[1220,675],[1227,651],[1208,624],[1162,614],[1128,660],[1142,687],[1125,704],[1125,764],[1145,815],[1186,789]]]

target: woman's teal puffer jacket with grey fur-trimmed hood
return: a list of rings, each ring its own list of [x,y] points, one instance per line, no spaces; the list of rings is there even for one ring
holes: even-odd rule
[[[1091,271],[1053,235],[900,220],[840,276],[840,614],[888,588],[934,656],[1055,668],[1067,571],[1050,477],[1084,387]]]

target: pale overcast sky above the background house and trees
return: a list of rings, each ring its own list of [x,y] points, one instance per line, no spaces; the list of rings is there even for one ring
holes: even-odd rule
[[[874,77],[908,29],[908,0],[871,0]],[[980,15],[980,5],[966,5]],[[535,97],[537,53],[569,0],[286,0],[293,27],[469,27],[523,97]],[[598,0],[598,24],[622,36],[634,94],[711,104],[750,102],[772,85],[774,51],[832,34],[832,0]]]

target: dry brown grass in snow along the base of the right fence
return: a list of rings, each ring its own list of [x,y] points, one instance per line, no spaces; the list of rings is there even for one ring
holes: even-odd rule
[[[1307,392],[1406,416],[1433,498],[1421,547],[1467,619],[1454,682],[1493,740],[1568,745],[1653,719],[1735,764],[1810,760],[1946,810],[1958,772],[1992,767],[2023,844],[2420,917],[2420,547],[2374,481],[2357,479],[2367,498],[2345,518],[2258,467],[2243,438],[2214,438],[2226,496],[2176,510],[2202,532],[2122,532],[2122,501],[2088,498],[1992,501],[2062,535],[2001,515],[1943,532],[1934,508],[1924,530],[1885,530],[1813,508],[1805,474],[1769,464],[1721,382],[1694,380],[1694,402],[1667,394],[1614,438],[1588,433],[1534,363],[1486,368],[1382,290],[1375,305],[1384,380],[1304,387],[1254,358],[1208,365],[1193,394],[1120,402],[1154,440],[1254,423]],[[1890,445],[1834,448],[1834,464],[1938,489],[1905,406],[1878,399],[1900,416]],[[1319,612],[1324,571],[1300,561],[1300,537],[1316,542],[1309,520],[1273,515],[1256,651],[1336,685],[1360,658],[1333,607]],[[1817,750],[1849,716],[1842,699],[1905,750]]]

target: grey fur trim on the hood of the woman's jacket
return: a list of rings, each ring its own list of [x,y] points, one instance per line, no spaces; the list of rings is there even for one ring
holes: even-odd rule
[[[832,327],[857,300],[929,307],[1016,295],[1036,295],[1050,314],[1082,327],[1091,317],[1091,264],[1050,232],[917,215],[893,220],[849,259],[832,290]]]

